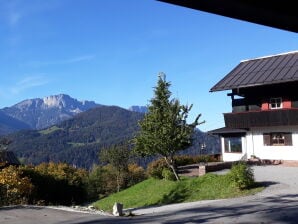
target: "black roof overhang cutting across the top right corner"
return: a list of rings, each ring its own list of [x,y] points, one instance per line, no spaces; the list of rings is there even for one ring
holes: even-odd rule
[[[298,33],[295,0],[158,0]]]

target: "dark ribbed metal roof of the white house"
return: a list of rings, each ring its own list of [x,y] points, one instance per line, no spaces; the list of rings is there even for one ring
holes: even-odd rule
[[[298,81],[298,51],[240,62],[210,92]]]

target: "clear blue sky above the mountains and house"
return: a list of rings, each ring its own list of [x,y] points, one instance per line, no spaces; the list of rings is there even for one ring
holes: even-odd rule
[[[231,111],[213,85],[241,60],[294,50],[296,33],[155,0],[0,0],[0,108],[60,93],[146,105],[164,72],[208,131]]]

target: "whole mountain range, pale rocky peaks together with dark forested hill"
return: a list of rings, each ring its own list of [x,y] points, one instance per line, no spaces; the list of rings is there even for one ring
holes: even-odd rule
[[[105,106],[60,94],[0,110],[0,130],[9,130],[5,136],[12,140],[9,150],[26,164],[63,161],[90,169],[98,163],[102,148],[134,136],[146,109]],[[204,154],[219,153],[218,138],[200,130],[196,130],[194,144],[185,153],[201,153],[201,143],[206,144]]]

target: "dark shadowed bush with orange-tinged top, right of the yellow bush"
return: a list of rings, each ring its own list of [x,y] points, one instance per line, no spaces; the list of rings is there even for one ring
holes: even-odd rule
[[[35,186],[31,197],[33,203],[70,205],[87,199],[87,171],[74,168],[66,163],[42,163],[25,166],[24,174]]]

